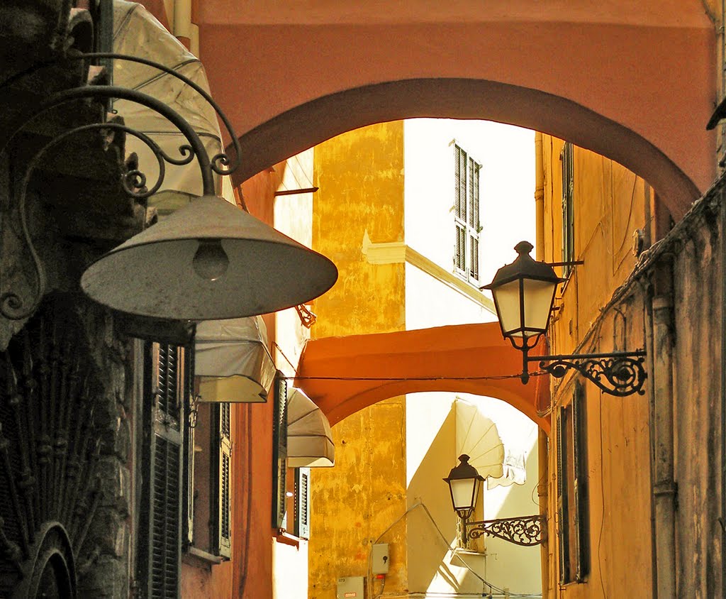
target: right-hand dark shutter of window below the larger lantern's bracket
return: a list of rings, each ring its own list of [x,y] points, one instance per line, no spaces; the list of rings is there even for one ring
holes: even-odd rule
[[[572,441],[574,458],[574,518],[576,536],[575,579],[582,582],[590,572],[590,523],[587,504],[587,425],[584,387],[575,386],[572,398]]]

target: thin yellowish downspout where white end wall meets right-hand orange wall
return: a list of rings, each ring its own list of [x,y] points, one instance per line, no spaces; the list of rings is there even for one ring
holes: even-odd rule
[[[544,260],[544,161],[542,159],[542,133],[534,133],[534,207],[537,228],[537,260]],[[549,455],[547,433],[539,429],[537,441],[537,465],[539,467],[539,483],[537,483],[537,496],[539,497],[539,514],[547,518],[547,485],[549,484]],[[547,523],[545,530],[549,530]],[[542,568],[542,599],[550,596],[550,545],[545,539],[539,548]]]

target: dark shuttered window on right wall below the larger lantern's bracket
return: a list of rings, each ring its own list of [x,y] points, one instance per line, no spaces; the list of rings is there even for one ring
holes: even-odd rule
[[[557,422],[557,507],[560,582],[583,582],[590,572],[585,394],[577,384]]]

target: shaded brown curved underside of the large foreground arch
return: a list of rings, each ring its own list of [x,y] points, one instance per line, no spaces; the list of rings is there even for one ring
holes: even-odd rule
[[[262,169],[351,129],[400,118],[485,118],[536,129],[612,158],[658,191],[676,219],[701,195],[655,145],[563,97],[496,81],[409,79],[318,98],[240,137],[242,182]]]

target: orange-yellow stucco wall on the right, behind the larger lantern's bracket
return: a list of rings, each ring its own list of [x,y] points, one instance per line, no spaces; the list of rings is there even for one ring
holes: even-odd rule
[[[545,260],[563,260],[560,150],[543,136]],[[635,350],[643,347],[643,297],[637,287],[614,308],[601,310],[635,266],[636,229],[648,229],[650,187],[623,166],[574,149],[575,258],[584,260],[564,287],[550,329],[551,353]],[[647,233],[646,233],[647,234]],[[647,243],[647,242],[646,242]],[[615,398],[582,379],[587,437],[590,574],[560,587],[557,531],[556,426],[550,436],[550,597],[650,597],[650,429],[648,393]],[[574,377],[552,382],[552,420],[570,403]],[[647,383],[646,383],[647,386]]]

